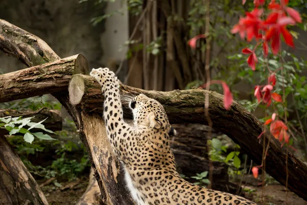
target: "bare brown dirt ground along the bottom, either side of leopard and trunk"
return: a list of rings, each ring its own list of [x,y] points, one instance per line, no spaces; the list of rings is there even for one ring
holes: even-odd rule
[[[88,177],[82,177],[71,182],[61,183],[62,188],[56,187],[51,183],[48,186],[42,187],[42,191],[45,193],[46,198],[50,205],[58,204],[75,204],[77,200],[82,196],[87,187]],[[44,181],[38,181],[42,183]],[[70,187],[63,189],[63,187]],[[258,204],[268,204],[268,205],[307,205],[307,201],[304,201],[292,192],[288,192],[288,202],[286,203],[286,190],[283,186],[273,183],[271,185],[265,186],[266,203],[261,202],[262,187],[261,186],[246,186],[246,189],[250,190],[245,192],[245,197],[251,199]],[[63,190],[61,190],[63,189]]]

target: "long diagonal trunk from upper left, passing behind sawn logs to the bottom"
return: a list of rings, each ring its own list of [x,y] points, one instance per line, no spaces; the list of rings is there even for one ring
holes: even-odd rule
[[[7,30],[9,30],[10,32],[7,32]],[[29,38],[35,40],[29,40]],[[43,63],[49,63],[60,59],[60,57],[45,42],[43,42],[43,40],[27,31],[24,31],[14,25],[9,24],[2,19],[0,19],[0,40],[1,50],[3,50],[9,55],[17,57],[29,67],[38,66]],[[19,43],[18,46],[15,45],[16,42]],[[88,136],[86,136],[86,129],[83,130],[83,128],[87,126],[87,128],[91,129],[90,131],[94,130],[94,127],[92,127],[93,125],[95,125],[95,128],[104,128],[104,123],[101,119],[101,116],[94,116],[93,114],[87,114],[85,112],[82,113],[81,116],[82,109],[76,108],[69,103],[68,91],[53,93],[53,95],[60,101],[60,103],[65,107],[65,109],[67,109],[67,111],[76,123],[77,129],[80,134],[80,139],[83,141],[87,152],[89,152],[90,160],[92,162],[95,177],[98,181],[103,202],[105,204],[116,205],[134,204],[131,201],[129,193],[126,190],[122,191],[122,189],[125,187],[122,186],[123,180],[120,180],[120,178],[123,177],[123,173],[120,172],[119,167],[116,167],[116,169],[114,169],[114,165],[118,165],[119,162],[113,157],[109,157],[106,159],[103,155],[106,154],[105,156],[109,156],[109,153],[111,151],[108,150],[109,147],[104,147],[102,149],[102,154],[97,159],[97,156],[94,156],[95,154],[91,152],[91,150],[95,146],[94,144],[91,144],[94,142],[94,140],[87,142]],[[82,121],[82,119],[85,119],[87,121]],[[99,141],[107,140],[106,132],[100,132],[99,134],[101,135],[96,136],[97,138],[99,137]],[[93,157],[96,157],[95,160],[93,160]],[[104,171],[112,170],[113,172],[100,172],[98,174],[96,167],[98,169],[103,169]],[[117,176],[117,178],[114,178],[114,176]],[[121,189],[110,189],[117,187],[120,187]],[[106,193],[104,190],[108,191],[108,193]],[[115,198],[114,196],[119,197]]]

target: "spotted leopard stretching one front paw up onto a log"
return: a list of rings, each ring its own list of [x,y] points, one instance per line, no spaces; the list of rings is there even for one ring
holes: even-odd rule
[[[169,144],[170,136],[178,133],[170,125],[164,107],[145,94],[133,96],[128,101],[133,121],[128,123],[123,116],[120,81],[114,72],[93,68],[90,75],[101,86],[107,138],[123,167],[127,191],[136,204],[256,204],[183,179],[176,170]]]

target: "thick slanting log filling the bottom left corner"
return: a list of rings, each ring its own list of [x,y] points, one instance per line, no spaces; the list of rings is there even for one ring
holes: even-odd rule
[[[0,204],[48,204],[24,163],[0,134]]]

